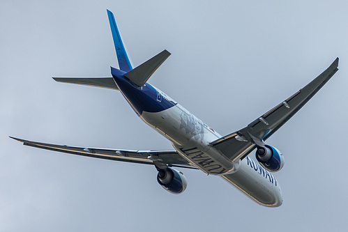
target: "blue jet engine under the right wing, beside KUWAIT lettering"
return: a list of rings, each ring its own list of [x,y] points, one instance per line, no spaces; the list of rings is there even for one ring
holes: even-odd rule
[[[268,171],[280,171],[285,164],[282,153],[277,148],[268,145],[257,148],[256,159]]]

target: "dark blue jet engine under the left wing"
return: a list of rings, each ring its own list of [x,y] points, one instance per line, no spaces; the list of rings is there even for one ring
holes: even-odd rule
[[[159,169],[157,174],[158,183],[168,192],[181,194],[186,190],[188,182],[181,171],[175,169]]]

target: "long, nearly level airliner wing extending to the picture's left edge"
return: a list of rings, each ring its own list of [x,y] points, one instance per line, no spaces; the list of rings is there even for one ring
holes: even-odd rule
[[[29,141],[10,137],[23,143],[26,146],[54,150],[73,155],[83,155],[105,160],[116,160],[121,162],[133,162],[137,164],[167,165],[168,167],[183,167],[197,169],[190,164],[176,150],[111,150],[102,148],[75,147],[56,144],[44,144],[36,141]]]

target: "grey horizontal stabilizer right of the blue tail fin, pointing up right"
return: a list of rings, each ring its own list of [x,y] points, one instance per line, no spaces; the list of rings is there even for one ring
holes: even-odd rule
[[[155,72],[163,62],[165,62],[168,56],[170,56],[170,53],[167,50],[164,50],[156,56],[153,56],[149,61],[142,63],[133,70],[130,70],[124,76],[128,77],[128,79],[130,79],[134,84],[137,84],[137,86],[144,86],[151,75],[153,75],[153,72]]]

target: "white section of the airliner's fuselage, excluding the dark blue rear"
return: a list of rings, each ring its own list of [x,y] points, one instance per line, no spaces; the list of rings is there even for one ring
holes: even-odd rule
[[[156,91],[161,95],[158,100],[174,101],[157,88]],[[181,105],[160,112],[143,111],[140,117],[172,141],[182,157],[205,173],[221,176],[259,204],[273,207],[282,204],[280,186],[271,173],[250,157],[232,162],[209,146],[220,134]]]

